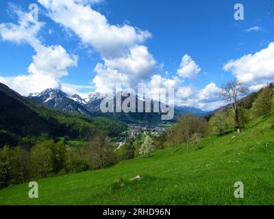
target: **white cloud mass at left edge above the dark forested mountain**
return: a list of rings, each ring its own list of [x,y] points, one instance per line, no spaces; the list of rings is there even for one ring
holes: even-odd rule
[[[36,51],[28,74],[16,77],[0,77],[1,83],[27,95],[41,92],[47,88],[61,88],[60,77],[68,75],[67,68],[77,66],[77,56],[66,53],[60,46],[45,46],[38,40],[37,34],[43,23],[34,20],[29,13],[12,8],[18,16],[18,24],[0,23],[0,36],[3,41],[18,44],[27,43]]]

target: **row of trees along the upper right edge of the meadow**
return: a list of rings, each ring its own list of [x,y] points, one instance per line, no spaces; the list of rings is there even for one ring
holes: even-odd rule
[[[234,90],[234,94],[242,91],[236,82],[229,83],[229,89]],[[235,91],[236,90],[236,91]],[[231,91],[231,90],[230,90]],[[239,94],[239,93],[238,93]],[[225,135],[245,128],[245,125],[258,116],[272,116],[272,123],[274,127],[274,86],[270,83],[260,92],[251,94],[244,99],[238,100],[238,96],[232,96],[231,105],[215,112],[207,118],[201,118],[192,114],[182,116],[179,121],[164,135],[155,138],[154,144],[158,149],[166,147],[174,147],[177,144],[186,143],[201,148],[201,138],[212,135]]]

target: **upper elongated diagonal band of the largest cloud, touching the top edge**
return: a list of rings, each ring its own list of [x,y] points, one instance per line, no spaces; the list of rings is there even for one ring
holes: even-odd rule
[[[56,23],[71,29],[82,42],[91,44],[105,58],[117,57],[151,37],[129,25],[110,25],[107,18],[83,1],[38,0]]]

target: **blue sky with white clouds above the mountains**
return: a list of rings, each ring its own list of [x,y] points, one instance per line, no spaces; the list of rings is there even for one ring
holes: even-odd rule
[[[30,3],[38,5],[38,21],[24,16]],[[244,21],[234,19],[236,3],[244,6]],[[251,91],[273,81],[272,4],[1,1],[0,81],[24,95],[58,87],[86,96],[110,92],[118,82],[150,90],[172,87],[177,105],[213,110],[222,104],[216,93],[225,81],[237,78]]]

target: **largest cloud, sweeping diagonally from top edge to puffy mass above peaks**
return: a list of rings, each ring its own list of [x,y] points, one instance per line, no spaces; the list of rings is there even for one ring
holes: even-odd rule
[[[156,62],[142,43],[149,31],[130,25],[112,25],[103,14],[81,0],[39,0],[49,17],[95,48],[103,63],[94,69],[97,92],[110,92],[116,83],[134,88],[155,73]]]

